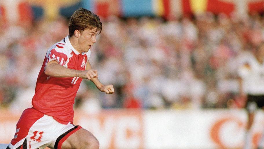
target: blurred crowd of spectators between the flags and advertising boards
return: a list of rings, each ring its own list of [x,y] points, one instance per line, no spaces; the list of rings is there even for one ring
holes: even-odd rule
[[[206,13],[162,18],[102,20],[102,33],[89,59],[106,95],[83,79],[75,107],[234,108],[241,107],[236,69],[252,43],[264,39],[264,19]],[[68,20],[33,25],[0,21],[0,108],[31,107],[36,78],[47,49],[68,35]]]

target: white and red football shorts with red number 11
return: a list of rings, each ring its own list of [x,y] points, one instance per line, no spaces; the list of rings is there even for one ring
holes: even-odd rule
[[[36,109],[25,109],[17,123],[14,138],[7,149],[60,149],[62,143],[81,126],[70,122],[61,124],[52,116],[47,116]]]

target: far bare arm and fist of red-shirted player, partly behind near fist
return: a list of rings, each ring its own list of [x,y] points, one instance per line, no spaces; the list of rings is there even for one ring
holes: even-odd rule
[[[87,64],[86,64],[86,68],[85,70],[93,70],[92,69],[92,66],[88,60]],[[98,90],[100,90],[101,92],[105,92],[106,94],[113,94],[115,91],[114,91],[114,87],[112,84],[110,85],[103,85],[99,79],[98,79],[98,76],[96,77],[93,77],[90,79],[94,85],[96,85],[96,87],[98,88]]]

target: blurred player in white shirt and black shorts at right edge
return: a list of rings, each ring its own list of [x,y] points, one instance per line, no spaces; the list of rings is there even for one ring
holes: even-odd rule
[[[240,77],[240,94],[247,99],[245,108],[248,113],[248,122],[244,148],[251,149],[253,146],[250,129],[254,122],[255,111],[258,108],[264,108],[264,42],[252,49],[252,55],[246,58],[243,65],[238,69],[238,74]],[[261,137],[258,146],[263,143],[264,135]]]

